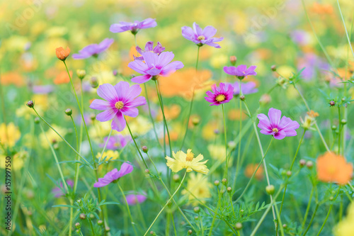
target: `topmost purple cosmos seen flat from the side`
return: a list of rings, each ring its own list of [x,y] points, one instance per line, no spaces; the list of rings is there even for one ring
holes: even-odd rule
[[[147,18],[144,21],[134,21],[134,23],[120,21],[120,23],[115,23],[110,26],[110,32],[122,33],[130,30],[130,32],[135,35],[139,29],[154,28],[156,26],[157,23],[153,18]]]

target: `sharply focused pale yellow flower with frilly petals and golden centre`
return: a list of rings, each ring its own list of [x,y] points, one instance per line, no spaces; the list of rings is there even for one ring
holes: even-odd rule
[[[187,153],[178,151],[177,153],[172,152],[173,158],[166,157],[167,166],[170,167],[172,172],[179,172],[181,169],[185,169],[187,172],[195,171],[202,174],[207,174],[209,169],[204,162],[200,162],[204,157],[202,154],[199,154],[198,157],[194,157],[192,150],[188,149]]]

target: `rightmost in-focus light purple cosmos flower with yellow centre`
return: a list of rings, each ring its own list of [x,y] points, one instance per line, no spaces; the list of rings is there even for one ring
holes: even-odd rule
[[[273,135],[277,140],[282,140],[284,137],[296,136],[296,129],[299,128],[299,123],[293,121],[286,116],[282,116],[282,112],[275,108],[270,108],[268,116],[258,114],[258,128],[261,129],[263,135]]]

